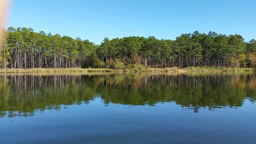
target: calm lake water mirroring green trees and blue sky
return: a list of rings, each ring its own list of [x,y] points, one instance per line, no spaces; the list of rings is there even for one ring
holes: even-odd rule
[[[2,73],[0,143],[256,144],[255,100],[255,73]]]

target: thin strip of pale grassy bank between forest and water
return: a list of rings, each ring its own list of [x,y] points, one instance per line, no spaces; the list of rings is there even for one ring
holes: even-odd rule
[[[2,73],[16,73],[16,72],[256,72],[253,68],[213,68],[213,67],[187,67],[185,69],[173,68],[140,68],[140,69],[0,69]]]

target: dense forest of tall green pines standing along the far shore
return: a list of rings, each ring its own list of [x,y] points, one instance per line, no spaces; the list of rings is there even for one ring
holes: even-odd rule
[[[9,27],[0,53],[0,68],[112,68],[129,66],[166,68],[177,66],[254,67],[256,40],[241,35],[198,31],[175,40],[155,37],[108,39],[95,45],[79,37],[33,32],[32,28]]]

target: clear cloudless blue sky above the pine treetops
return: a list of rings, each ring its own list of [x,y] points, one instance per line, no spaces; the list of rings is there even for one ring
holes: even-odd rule
[[[256,39],[256,0],[12,0],[5,27],[88,39],[215,31]]]

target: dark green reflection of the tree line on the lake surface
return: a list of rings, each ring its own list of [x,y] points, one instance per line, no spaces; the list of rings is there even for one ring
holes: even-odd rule
[[[0,75],[0,117],[33,116],[61,105],[151,105],[174,102],[194,109],[242,106],[256,99],[255,74]]]

